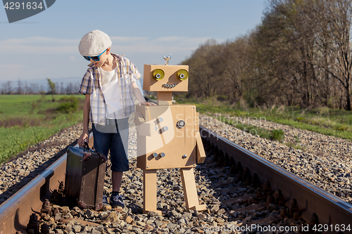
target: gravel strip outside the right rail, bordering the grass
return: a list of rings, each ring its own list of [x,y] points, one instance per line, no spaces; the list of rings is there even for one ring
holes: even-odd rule
[[[352,142],[334,136],[325,136],[312,131],[294,129],[291,126],[268,122],[263,119],[241,120],[228,117],[234,123],[237,121],[260,126],[265,129],[282,129],[285,141],[296,141],[299,136],[300,144],[307,149],[296,150],[277,141],[260,138],[251,133],[241,131],[229,124],[201,115],[200,124],[251,152],[306,178],[320,188],[338,195],[343,200],[352,201],[351,168]]]

